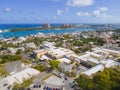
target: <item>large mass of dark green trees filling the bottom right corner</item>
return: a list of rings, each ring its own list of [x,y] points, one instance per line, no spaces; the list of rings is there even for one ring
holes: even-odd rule
[[[106,68],[92,78],[80,75],[76,82],[82,90],[120,90],[120,67]]]

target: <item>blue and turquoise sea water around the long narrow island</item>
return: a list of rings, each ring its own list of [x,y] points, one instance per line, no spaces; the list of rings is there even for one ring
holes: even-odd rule
[[[52,24],[51,26],[59,26],[60,24]],[[35,35],[37,33],[43,34],[63,34],[63,33],[74,33],[84,30],[93,30],[92,28],[74,28],[74,29],[60,29],[60,30],[27,30],[27,31],[17,31],[10,32],[11,28],[30,28],[30,27],[39,27],[42,24],[0,24],[0,30],[4,30],[5,32],[0,32],[0,38],[11,38],[11,37],[20,37],[20,36],[28,36]]]

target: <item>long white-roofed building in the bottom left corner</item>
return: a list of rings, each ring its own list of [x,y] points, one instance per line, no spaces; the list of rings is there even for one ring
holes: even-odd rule
[[[3,90],[2,88],[4,87],[4,84],[7,84],[7,86],[14,86],[15,83],[21,84],[23,83],[24,79],[30,79],[31,77],[36,76],[39,73],[40,72],[36,69],[27,68],[13,75],[7,76],[0,81],[0,90]]]

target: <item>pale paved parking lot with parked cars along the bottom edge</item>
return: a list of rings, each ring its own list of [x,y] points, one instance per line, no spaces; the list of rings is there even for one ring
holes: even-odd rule
[[[55,75],[50,76],[44,81],[40,79],[31,85],[31,90],[74,90],[69,86],[71,80],[59,78]]]

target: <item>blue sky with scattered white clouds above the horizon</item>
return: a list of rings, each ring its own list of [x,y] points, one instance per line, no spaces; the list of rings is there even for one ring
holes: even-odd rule
[[[120,23],[120,0],[0,0],[0,24]]]

